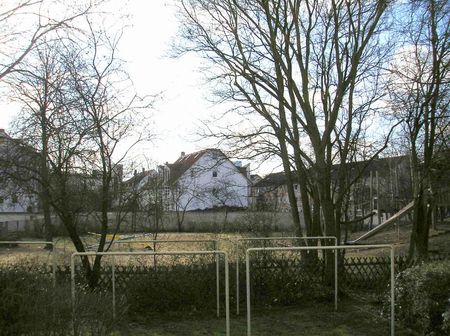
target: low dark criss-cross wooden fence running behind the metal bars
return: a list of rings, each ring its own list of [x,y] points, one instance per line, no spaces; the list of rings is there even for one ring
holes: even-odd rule
[[[431,255],[431,260],[444,260],[449,254]],[[395,258],[396,272],[407,267],[407,257]],[[332,267],[331,267],[332,266]],[[236,265],[230,264],[230,274],[234,274]],[[308,298],[332,297],[334,258],[330,258],[330,267],[326,266],[323,257],[302,258],[298,253],[284,256],[270,254],[260,255],[252,260],[252,296],[255,303],[260,304],[297,304]],[[48,273],[51,275],[50,265],[2,265],[10,270],[22,269],[30,273]],[[244,269],[244,265],[240,266]],[[2,269],[0,268],[0,273]],[[86,284],[81,265],[77,265],[76,280],[83,287]],[[57,265],[58,283],[68,283],[70,267]],[[223,274],[222,274],[223,276]],[[390,258],[358,256],[346,257],[339,262],[339,288],[347,290],[368,290],[377,295],[387,290],[390,277]],[[100,290],[111,290],[112,270],[104,264],[99,281]],[[146,295],[152,296],[152,301],[160,298],[157,294],[164,293],[165,297],[172,295],[176,300],[177,293],[198,292],[202,296],[210,291],[214,293],[215,263],[213,260],[191,262],[173,265],[116,265],[116,288],[127,296],[128,291],[146,287]],[[235,282],[230,282],[230,293],[235,293]],[[222,281],[223,286],[223,281]],[[137,288],[138,287],[138,288]],[[205,288],[203,288],[205,287]],[[245,298],[245,281],[240,282],[240,298]],[[162,300],[164,300],[162,298]],[[231,301],[235,300],[231,297]],[[235,301],[234,301],[235,302]],[[243,303],[243,302],[242,302]],[[206,303],[205,303],[206,304]],[[201,303],[198,302],[201,306]],[[214,306],[214,301],[210,302]]]

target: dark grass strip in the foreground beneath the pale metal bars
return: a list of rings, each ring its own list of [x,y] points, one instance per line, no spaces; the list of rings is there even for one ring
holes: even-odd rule
[[[245,314],[245,313],[244,313]],[[245,315],[232,313],[231,335],[247,334]],[[387,320],[376,318],[350,304],[342,304],[339,312],[332,305],[317,304],[304,308],[283,307],[254,310],[252,335],[259,336],[378,336],[389,335]],[[225,320],[201,318],[189,314],[149,315],[145,320],[123,326],[115,336],[214,336],[225,335]],[[396,335],[414,335],[396,329]]]

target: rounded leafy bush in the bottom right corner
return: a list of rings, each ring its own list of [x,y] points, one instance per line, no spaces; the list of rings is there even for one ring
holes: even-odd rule
[[[396,316],[422,335],[450,334],[450,260],[411,267],[395,284]]]

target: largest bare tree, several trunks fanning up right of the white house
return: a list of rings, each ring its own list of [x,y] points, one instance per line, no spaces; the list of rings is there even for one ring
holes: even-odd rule
[[[239,114],[236,124],[213,133],[242,156],[281,159],[299,235],[294,177],[306,234],[340,239],[347,164],[362,151],[382,96],[388,3],[182,1],[185,44],[178,51],[198,52],[215,65],[216,93]],[[246,127],[237,125],[242,121]],[[372,141],[371,157],[384,148],[381,140]]]

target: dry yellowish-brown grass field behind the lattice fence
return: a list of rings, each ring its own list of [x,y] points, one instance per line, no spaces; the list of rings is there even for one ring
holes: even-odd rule
[[[410,225],[401,225],[399,228],[392,227],[382,231],[375,237],[368,239],[367,244],[394,244],[396,248],[396,254],[405,255],[408,253],[409,233],[411,230]],[[355,232],[350,234],[349,240],[359,237],[363,232]],[[292,236],[292,233],[286,233],[284,236]],[[127,235],[118,235],[117,239],[123,239]],[[129,236],[129,235],[128,235]],[[235,249],[233,242],[238,238],[246,237],[247,235],[232,234],[232,233],[159,233],[157,235],[158,240],[218,240],[219,249],[226,251],[230,258],[235,257]],[[281,236],[280,233],[274,233],[273,236]],[[97,243],[97,236],[86,235],[83,236],[83,241],[87,246],[93,247]],[[155,239],[153,235],[136,234],[136,239],[151,240]],[[23,239],[25,240],[25,239]],[[35,239],[32,239],[35,240]],[[131,240],[130,240],[131,241]],[[437,230],[430,230],[430,253],[450,253],[450,223],[445,225],[439,225]],[[56,237],[54,239],[55,255],[57,263],[69,263],[71,253],[75,252],[75,249],[67,237]],[[291,246],[292,241],[277,241],[276,246]],[[247,243],[247,247],[259,247],[256,243]],[[199,243],[159,243],[156,246],[148,243],[123,243],[115,244],[110,251],[193,251],[193,250],[213,250],[212,243],[199,242]],[[350,250],[347,252],[349,256],[383,256],[389,255],[389,251],[386,249],[370,249],[370,250]],[[0,263],[17,262],[23,259],[33,258],[33,260],[42,262],[48,262],[48,251],[43,249],[41,245],[18,245],[13,248],[2,246],[0,244]]]

